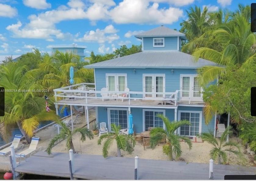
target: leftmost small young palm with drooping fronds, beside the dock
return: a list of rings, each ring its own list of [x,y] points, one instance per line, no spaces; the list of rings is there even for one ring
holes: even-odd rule
[[[58,122],[58,124],[62,127],[62,130],[58,135],[56,135],[54,138],[52,138],[51,142],[49,143],[46,152],[48,154],[51,154],[52,147],[56,142],[58,142],[60,139],[65,140],[66,139],[66,147],[68,150],[72,149],[73,153],[75,153],[75,148],[73,145],[73,136],[77,133],[80,133],[81,135],[81,141],[84,142],[86,137],[88,137],[90,140],[93,139],[93,133],[88,128],[77,128],[74,131],[71,131],[66,124],[63,122]]]

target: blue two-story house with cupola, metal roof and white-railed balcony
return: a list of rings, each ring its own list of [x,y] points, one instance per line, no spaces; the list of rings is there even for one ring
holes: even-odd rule
[[[106,122],[108,131],[112,123],[128,128],[131,113],[136,133],[149,127],[165,128],[157,114],[170,121],[190,121],[190,126],[179,128],[179,135],[214,133],[216,118],[213,116],[208,125],[204,121],[197,68],[215,63],[204,59],[196,62],[191,55],[181,52],[185,34],[165,26],[135,37],[142,40],[142,52],[85,66],[94,69],[95,90],[76,90],[72,100],[65,93],[56,93],[55,96],[63,97],[56,104],[85,106],[87,112],[88,107],[96,107],[96,120]],[[62,88],[62,92],[63,89],[72,88]]]

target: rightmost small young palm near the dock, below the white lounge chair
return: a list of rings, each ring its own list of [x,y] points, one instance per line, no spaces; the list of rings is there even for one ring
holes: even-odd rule
[[[229,126],[225,129],[219,140],[215,138],[211,133],[201,133],[201,135],[198,135],[198,137],[202,138],[202,140],[205,140],[213,145],[210,151],[210,156],[212,159],[218,160],[218,164],[221,163],[221,159],[223,160],[224,163],[226,163],[226,152],[234,153],[237,156],[241,155],[238,143],[230,141],[226,142],[227,136],[230,135],[231,133],[231,127]]]

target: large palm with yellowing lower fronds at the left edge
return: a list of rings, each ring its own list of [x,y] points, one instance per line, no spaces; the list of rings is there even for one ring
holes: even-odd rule
[[[36,83],[37,71],[28,71],[27,66],[13,62],[0,67],[0,87],[13,92],[5,92],[5,115],[0,117],[4,126],[17,124],[28,143],[33,131],[41,121],[56,121],[58,116],[52,110],[45,110],[43,93],[32,92],[33,89],[44,89]],[[27,91],[27,92],[26,92]]]

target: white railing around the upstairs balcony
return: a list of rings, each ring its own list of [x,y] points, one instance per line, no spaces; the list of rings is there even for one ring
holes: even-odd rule
[[[134,100],[153,100],[159,101],[162,104],[166,102],[171,103],[174,106],[177,106],[178,92],[117,92],[117,91],[95,91],[94,83],[81,83],[72,86],[66,86],[59,89],[54,89],[55,100],[57,101],[58,97],[61,100],[85,100],[87,104],[90,99],[99,99],[104,102],[104,100],[116,100],[122,99],[128,101],[128,105],[131,105],[131,101]]]

